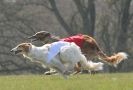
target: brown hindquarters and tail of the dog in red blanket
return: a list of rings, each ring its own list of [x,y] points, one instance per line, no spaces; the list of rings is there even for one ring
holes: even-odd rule
[[[93,59],[94,57],[99,57],[105,62],[108,62],[109,64],[116,65],[119,64],[122,60],[126,59],[123,57],[122,54],[114,54],[112,56],[107,56],[98,46],[97,42],[94,38],[83,35],[84,37],[84,44],[81,48],[82,52],[86,54],[86,57],[89,59]],[[126,54],[126,53],[125,53]]]

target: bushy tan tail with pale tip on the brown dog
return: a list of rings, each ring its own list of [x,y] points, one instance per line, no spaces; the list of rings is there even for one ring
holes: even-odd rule
[[[128,55],[125,52],[119,52],[112,56],[107,56],[103,52],[98,53],[100,59],[114,65],[115,67],[123,60],[127,59]]]

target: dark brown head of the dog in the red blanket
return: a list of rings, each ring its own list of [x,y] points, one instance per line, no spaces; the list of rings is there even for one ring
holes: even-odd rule
[[[46,38],[50,37],[51,34],[47,31],[40,31],[40,32],[37,32],[36,34],[28,37],[28,39],[31,39],[31,41],[37,41],[37,40],[40,40],[40,41],[45,41]]]

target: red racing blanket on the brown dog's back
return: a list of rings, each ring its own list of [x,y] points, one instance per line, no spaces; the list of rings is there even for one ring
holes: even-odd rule
[[[74,42],[76,45],[78,45],[81,48],[83,46],[84,37],[82,34],[78,34],[67,38],[63,38],[61,39],[61,41]]]

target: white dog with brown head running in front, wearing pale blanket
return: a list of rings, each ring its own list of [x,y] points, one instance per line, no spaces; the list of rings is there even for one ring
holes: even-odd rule
[[[60,42],[45,44],[41,47],[36,47],[31,43],[22,43],[13,48],[11,52],[14,52],[15,54],[22,54],[24,57],[27,57],[33,62],[40,62],[42,65],[53,68],[64,77],[74,71],[74,66],[78,62],[80,62],[82,69],[103,69],[103,63],[101,62],[88,62],[85,56],[81,53],[80,48],[74,43],[61,42],[62,45],[61,47],[57,47],[59,50],[55,51],[56,54],[53,55],[49,53],[52,45],[57,45],[58,43]]]

